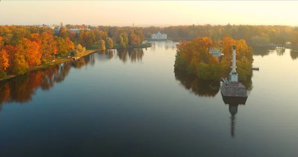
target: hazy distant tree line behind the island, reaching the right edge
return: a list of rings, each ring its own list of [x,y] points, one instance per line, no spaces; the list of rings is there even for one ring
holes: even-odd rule
[[[291,26],[266,26],[266,25],[189,25],[189,26],[169,26],[169,27],[147,27],[143,33],[147,38],[151,34],[160,31],[165,33],[173,41],[192,40],[196,37],[208,37],[213,41],[218,41],[223,37],[235,40],[243,39],[249,44],[253,43],[273,43],[285,44],[291,42],[298,44],[298,27]]]

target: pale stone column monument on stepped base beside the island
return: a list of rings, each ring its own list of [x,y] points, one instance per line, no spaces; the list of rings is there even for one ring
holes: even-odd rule
[[[221,93],[223,97],[243,97],[247,99],[247,92],[245,86],[242,83],[238,82],[238,74],[236,72],[236,46],[234,45],[231,68],[232,70],[229,74],[229,81],[227,81],[226,78],[222,78],[223,85],[221,87]]]

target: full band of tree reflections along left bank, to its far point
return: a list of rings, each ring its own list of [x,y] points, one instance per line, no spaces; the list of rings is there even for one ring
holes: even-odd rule
[[[35,91],[42,89],[50,90],[55,83],[63,82],[68,76],[71,68],[82,69],[85,65],[94,66],[95,56],[99,57],[99,61],[105,61],[113,58],[113,50],[92,53],[83,56],[75,61],[64,62],[62,64],[53,65],[39,71],[31,71],[25,75],[20,75],[8,80],[0,82],[0,111],[3,103],[26,103],[32,101],[32,95]],[[122,49],[117,51],[119,59],[126,62],[129,58],[132,62],[142,61],[143,49]]]

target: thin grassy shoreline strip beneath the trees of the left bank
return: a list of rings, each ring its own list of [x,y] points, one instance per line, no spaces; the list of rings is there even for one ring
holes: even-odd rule
[[[94,52],[97,52],[97,48],[92,49],[92,47],[90,49],[86,49],[85,53],[81,57],[89,55],[89,54],[94,53]],[[128,46],[126,48],[119,47],[118,45],[113,45],[112,49],[107,49],[107,50],[130,49],[130,48],[132,48],[132,49],[143,49],[143,48],[150,48],[150,47],[151,47],[151,44],[140,44],[140,45],[137,45],[137,46]],[[81,58],[81,57],[79,57],[79,58]],[[41,70],[41,69],[44,69],[44,68],[47,68],[47,67],[50,67],[50,66],[53,66],[53,65],[56,65],[56,64],[61,64],[61,63],[64,63],[66,61],[71,61],[71,60],[74,60],[74,58],[61,58],[61,59],[58,59],[58,60],[55,60],[55,61],[52,61],[52,62],[47,62],[44,65],[35,66],[33,69],[29,70],[28,72]],[[28,72],[26,72],[26,73],[28,73]],[[4,80],[11,79],[11,78],[16,77],[16,76],[19,76],[19,75],[7,75],[6,77],[1,78],[0,82],[4,81]]]

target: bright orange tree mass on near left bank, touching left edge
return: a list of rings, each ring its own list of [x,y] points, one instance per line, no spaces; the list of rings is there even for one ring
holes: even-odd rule
[[[53,36],[47,28],[0,26],[0,77],[24,74],[73,49],[69,38]]]

